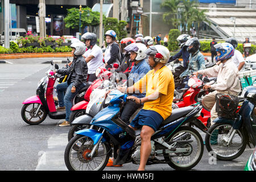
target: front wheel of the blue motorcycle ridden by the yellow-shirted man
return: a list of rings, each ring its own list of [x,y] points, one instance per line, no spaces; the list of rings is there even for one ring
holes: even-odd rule
[[[78,148],[75,150],[74,148]],[[94,156],[88,157],[93,149],[93,140],[84,135],[76,135],[65,149],[64,159],[69,171],[102,171],[108,163],[110,146],[100,143]]]

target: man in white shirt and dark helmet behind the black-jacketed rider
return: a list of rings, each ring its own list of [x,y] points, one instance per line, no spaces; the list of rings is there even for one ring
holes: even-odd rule
[[[84,53],[84,58],[88,66],[88,81],[93,82],[97,79],[96,69],[104,67],[103,53],[100,47],[97,46],[97,36],[93,33],[85,33],[82,35],[82,39],[85,41],[85,46],[88,51]]]

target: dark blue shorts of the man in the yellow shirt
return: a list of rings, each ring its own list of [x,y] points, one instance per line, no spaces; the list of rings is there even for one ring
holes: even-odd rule
[[[163,117],[160,114],[156,113],[156,111],[141,109],[141,111],[139,111],[133,121],[131,121],[130,125],[135,128],[146,125],[156,131],[163,122],[163,120]]]

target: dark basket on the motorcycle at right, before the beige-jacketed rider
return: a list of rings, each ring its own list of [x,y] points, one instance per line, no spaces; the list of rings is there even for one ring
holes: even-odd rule
[[[216,112],[218,117],[234,119],[239,104],[238,97],[230,94],[216,94]]]

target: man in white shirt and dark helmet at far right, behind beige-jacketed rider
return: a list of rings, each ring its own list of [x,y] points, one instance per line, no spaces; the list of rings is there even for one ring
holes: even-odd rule
[[[243,55],[240,51],[238,51],[237,45],[237,39],[235,38],[228,38],[226,39],[227,43],[232,44],[232,46],[234,47],[234,56],[232,57],[234,64],[236,64],[238,71],[241,71],[241,69],[243,68],[243,65],[245,65],[245,59],[243,59]]]

